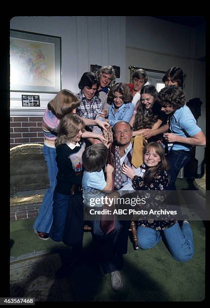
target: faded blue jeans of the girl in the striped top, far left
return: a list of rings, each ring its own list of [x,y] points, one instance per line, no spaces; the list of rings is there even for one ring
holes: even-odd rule
[[[49,188],[47,189],[44,195],[42,206],[39,210],[38,216],[34,222],[33,227],[35,230],[38,230],[39,232],[49,233],[53,220],[52,216],[53,193],[57,183],[56,176],[58,172],[57,163],[55,161],[56,148],[44,145],[43,154],[48,169]]]

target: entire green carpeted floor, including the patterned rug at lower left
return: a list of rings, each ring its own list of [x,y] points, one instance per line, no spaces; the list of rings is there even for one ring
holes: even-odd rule
[[[84,250],[87,255],[85,264],[76,268],[72,276],[57,279],[55,272],[63,256],[71,253],[71,248],[62,243],[55,243],[51,239],[39,240],[33,232],[33,223],[34,219],[11,222],[13,294],[17,292],[21,296],[35,294],[36,300],[44,301],[202,301],[204,299],[205,227],[202,221],[191,221],[195,253],[192,260],[187,263],[174,260],[163,242],[151,250],[134,251],[131,242],[128,241],[128,252],[124,256],[124,267],[121,271],[124,288],[118,293],[111,288],[109,275],[103,275],[90,257],[91,233],[84,235]],[[44,252],[48,254],[43,254]],[[23,260],[23,258],[30,259]],[[38,291],[37,286],[40,286],[42,293]]]

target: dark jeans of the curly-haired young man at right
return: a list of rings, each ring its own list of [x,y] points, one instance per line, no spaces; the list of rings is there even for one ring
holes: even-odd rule
[[[176,190],[175,181],[179,174],[179,171],[184,167],[189,161],[191,156],[190,151],[185,150],[171,150],[167,155],[166,159],[170,165],[168,171],[169,175],[169,186],[166,190]]]

